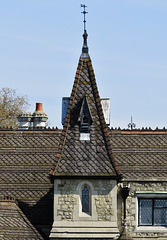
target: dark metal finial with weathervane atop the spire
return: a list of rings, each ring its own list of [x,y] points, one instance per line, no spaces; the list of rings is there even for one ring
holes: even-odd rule
[[[87,31],[86,31],[86,14],[87,14],[88,12],[85,11],[85,8],[86,8],[87,6],[81,4],[81,7],[84,8],[83,12],[81,12],[81,13],[84,14],[84,20],[83,20],[83,23],[84,23],[84,33],[83,33],[83,35],[82,35],[82,36],[83,36],[83,47],[82,47],[81,57],[87,58],[87,57],[89,57],[88,45],[87,45],[87,37],[88,37],[88,34],[87,34]]]

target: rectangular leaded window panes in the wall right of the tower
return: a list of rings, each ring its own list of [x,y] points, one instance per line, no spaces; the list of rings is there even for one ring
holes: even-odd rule
[[[167,199],[140,198],[139,225],[140,226],[167,225]]]

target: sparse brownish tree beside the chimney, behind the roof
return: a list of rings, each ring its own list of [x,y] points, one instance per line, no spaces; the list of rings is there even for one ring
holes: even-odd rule
[[[15,89],[0,90],[0,127],[17,128],[17,116],[29,106],[26,96],[19,96]]]

